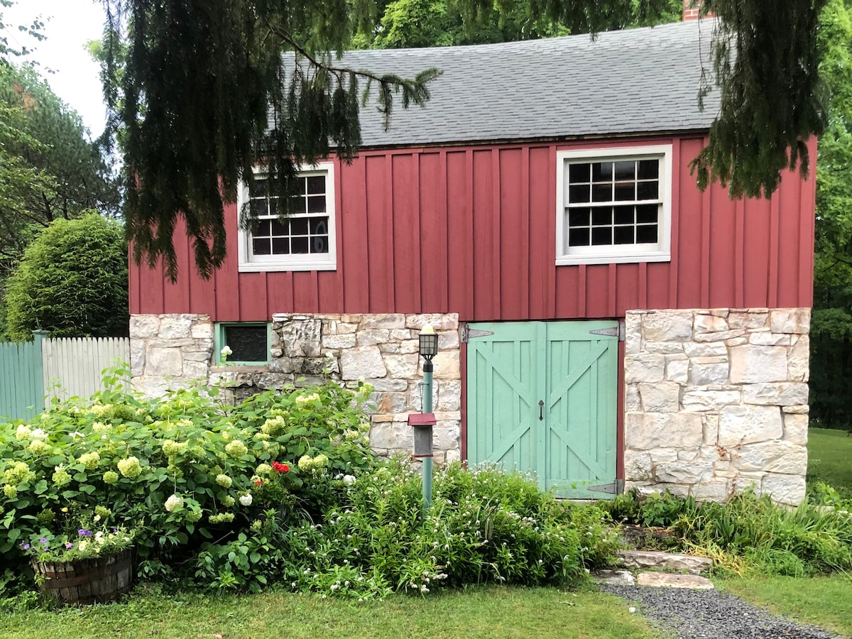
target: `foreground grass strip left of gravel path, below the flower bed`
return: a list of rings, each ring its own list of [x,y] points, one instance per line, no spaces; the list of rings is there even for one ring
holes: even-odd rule
[[[659,634],[616,597],[592,590],[475,588],[382,602],[266,593],[203,597],[136,589],[121,604],[0,613],[0,637],[549,637],[652,639]]]

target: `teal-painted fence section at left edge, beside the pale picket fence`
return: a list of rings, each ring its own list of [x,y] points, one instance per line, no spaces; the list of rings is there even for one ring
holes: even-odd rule
[[[0,343],[0,419],[32,419],[43,411],[42,341]]]

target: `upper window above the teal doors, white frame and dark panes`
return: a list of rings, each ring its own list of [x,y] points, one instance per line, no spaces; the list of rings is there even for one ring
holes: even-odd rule
[[[671,259],[671,146],[556,153],[556,264]]]

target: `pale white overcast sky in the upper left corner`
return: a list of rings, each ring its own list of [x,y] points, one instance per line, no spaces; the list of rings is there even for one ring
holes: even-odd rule
[[[97,137],[106,122],[106,107],[100,68],[85,45],[101,37],[106,21],[103,5],[100,0],[16,0],[3,11],[3,21],[9,26],[29,25],[38,15],[45,23],[47,39],[36,42],[9,28],[10,44],[35,49],[29,59],[39,63],[39,72],[50,88],[80,114],[92,137]]]

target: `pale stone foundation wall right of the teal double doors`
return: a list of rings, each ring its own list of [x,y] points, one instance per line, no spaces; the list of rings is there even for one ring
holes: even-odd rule
[[[625,490],[801,502],[809,325],[808,308],[628,312]]]

